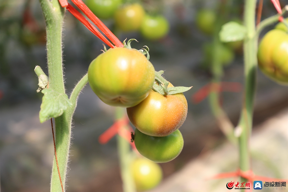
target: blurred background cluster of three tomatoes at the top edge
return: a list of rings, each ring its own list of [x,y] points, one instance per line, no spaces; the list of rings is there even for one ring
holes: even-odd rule
[[[146,14],[138,3],[122,5],[122,0],[86,0],[86,3],[97,17],[114,17],[115,25],[124,32],[140,31],[149,40],[161,39],[169,32],[165,17]]]

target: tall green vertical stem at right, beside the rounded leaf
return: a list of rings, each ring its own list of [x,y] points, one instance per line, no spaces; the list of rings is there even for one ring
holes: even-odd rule
[[[244,76],[245,92],[242,111],[238,126],[242,133],[239,137],[240,169],[248,171],[250,165],[249,141],[252,130],[253,103],[257,75],[257,38],[255,35],[255,9],[257,0],[245,0],[244,24],[247,28],[247,37],[244,39]],[[245,180],[242,178],[242,180]]]

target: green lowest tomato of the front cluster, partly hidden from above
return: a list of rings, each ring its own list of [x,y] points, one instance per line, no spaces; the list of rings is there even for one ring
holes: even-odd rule
[[[184,140],[179,130],[164,137],[154,137],[135,130],[134,142],[141,155],[156,163],[175,159],[182,151]]]

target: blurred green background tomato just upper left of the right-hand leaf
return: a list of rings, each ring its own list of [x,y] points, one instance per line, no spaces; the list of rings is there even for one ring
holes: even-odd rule
[[[202,9],[196,15],[196,25],[200,31],[207,35],[214,32],[216,14],[213,10]]]

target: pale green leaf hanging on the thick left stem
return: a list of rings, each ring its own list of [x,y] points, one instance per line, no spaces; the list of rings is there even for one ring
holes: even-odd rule
[[[43,123],[52,117],[59,117],[72,103],[66,94],[58,93],[52,89],[43,89],[44,96],[40,106],[39,119]]]

